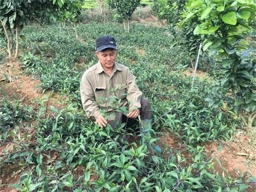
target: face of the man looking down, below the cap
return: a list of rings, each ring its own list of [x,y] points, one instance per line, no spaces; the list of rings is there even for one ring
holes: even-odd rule
[[[116,49],[105,49],[103,51],[96,51],[100,63],[104,68],[112,68],[116,62]]]

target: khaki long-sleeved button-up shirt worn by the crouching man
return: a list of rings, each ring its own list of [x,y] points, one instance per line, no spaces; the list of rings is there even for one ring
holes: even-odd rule
[[[110,76],[105,73],[100,62],[86,70],[80,84],[81,101],[86,117],[96,119],[101,113],[100,109],[111,112],[127,104],[140,108],[142,92],[137,87],[135,79],[128,67],[116,62]]]

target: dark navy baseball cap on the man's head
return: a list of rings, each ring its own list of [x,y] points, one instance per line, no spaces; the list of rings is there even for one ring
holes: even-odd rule
[[[96,50],[102,51],[104,49],[117,49],[116,40],[109,35],[101,36],[96,40]]]

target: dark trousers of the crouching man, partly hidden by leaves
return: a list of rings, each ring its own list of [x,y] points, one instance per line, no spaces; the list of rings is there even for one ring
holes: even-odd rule
[[[148,99],[142,97],[140,100],[140,118],[144,119],[152,119],[152,111],[150,107],[150,103]],[[129,106],[128,106],[129,108]],[[116,114],[115,120],[108,121],[108,123],[112,126],[112,128],[119,128],[122,123],[128,123],[129,125],[136,123],[137,119],[129,119],[125,114],[122,112],[118,112]]]

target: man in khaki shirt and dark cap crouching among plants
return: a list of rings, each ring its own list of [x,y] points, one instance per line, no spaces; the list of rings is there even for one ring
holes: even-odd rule
[[[140,114],[143,128],[151,128],[152,112],[147,99],[136,85],[135,76],[128,67],[116,62],[117,45],[111,36],[102,36],[96,40],[98,63],[86,70],[81,78],[81,101],[87,118],[95,120],[101,127],[110,124],[119,128],[126,118],[136,119]],[[121,101],[111,103],[115,96]],[[116,108],[126,107],[127,114],[116,112]],[[102,111],[107,111],[105,119]],[[148,131],[145,132],[147,134]]]

